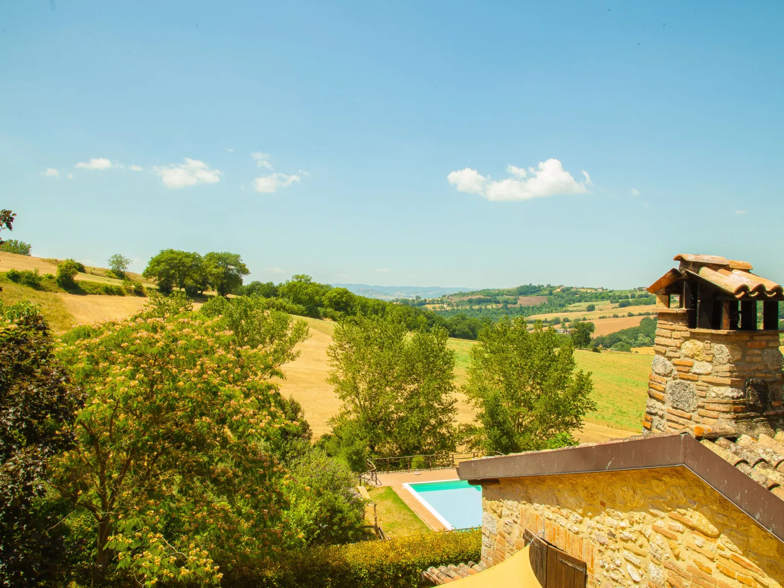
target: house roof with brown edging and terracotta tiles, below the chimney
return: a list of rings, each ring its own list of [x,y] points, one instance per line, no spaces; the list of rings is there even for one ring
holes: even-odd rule
[[[762,434],[758,439],[743,435],[735,443],[728,439],[700,443],[685,433],[641,435],[472,459],[460,463],[457,474],[472,484],[492,484],[502,477],[684,466],[784,542],[784,479],[779,477],[784,463],[779,456],[784,456],[782,442]]]

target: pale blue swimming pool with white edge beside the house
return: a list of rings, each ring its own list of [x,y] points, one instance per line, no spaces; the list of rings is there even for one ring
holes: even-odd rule
[[[482,524],[481,486],[472,486],[466,480],[444,480],[412,482],[403,488],[448,529]]]

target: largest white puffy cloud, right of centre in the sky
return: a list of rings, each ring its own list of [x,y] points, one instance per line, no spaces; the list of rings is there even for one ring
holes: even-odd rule
[[[460,192],[480,194],[490,201],[530,200],[557,194],[587,194],[593,182],[588,172],[583,171],[585,180],[577,181],[564,170],[557,159],[550,158],[539,163],[539,169],[524,169],[510,165],[507,171],[514,177],[492,180],[482,176],[476,169],[460,169],[447,176],[447,180]],[[528,177],[530,176],[530,177]]]

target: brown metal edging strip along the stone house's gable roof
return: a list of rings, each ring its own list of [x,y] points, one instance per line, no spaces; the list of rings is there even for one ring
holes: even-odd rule
[[[460,463],[471,484],[499,478],[589,474],[684,466],[784,543],[784,501],[688,434],[608,441]]]

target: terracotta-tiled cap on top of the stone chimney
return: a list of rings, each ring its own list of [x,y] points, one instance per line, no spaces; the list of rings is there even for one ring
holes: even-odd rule
[[[753,274],[751,263],[746,261],[689,253],[678,254],[673,259],[681,262],[680,267],[669,270],[648,287],[648,292],[662,293],[684,278],[695,278],[739,300],[784,299],[784,288],[775,281]]]

